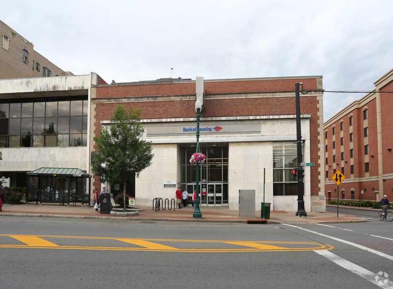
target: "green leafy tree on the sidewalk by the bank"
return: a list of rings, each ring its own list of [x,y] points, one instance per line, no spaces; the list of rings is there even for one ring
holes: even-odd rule
[[[140,109],[123,105],[113,111],[110,128],[103,128],[94,137],[97,150],[93,152],[91,171],[101,182],[123,183],[124,210],[126,210],[126,181],[151,165],[154,156],[151,142],[141,140],[144,128],[140,123]]]

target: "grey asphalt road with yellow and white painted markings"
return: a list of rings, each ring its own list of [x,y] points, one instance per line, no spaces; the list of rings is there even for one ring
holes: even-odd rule
[[[391,222],[0,221],[2,288],[393,288]]]

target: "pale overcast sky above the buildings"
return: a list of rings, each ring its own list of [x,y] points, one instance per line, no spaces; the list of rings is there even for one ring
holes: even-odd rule
[[[327,90],[372,90],[393,68],[390,0],[13,0],[0,20],[108,83],[322,75]],[[325,121],[363,95],[326,92]]]

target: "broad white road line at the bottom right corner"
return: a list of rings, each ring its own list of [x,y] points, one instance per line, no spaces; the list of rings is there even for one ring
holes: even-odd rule
[[[351,271],[352,273],[364,278],[365,280],[371,282],[372,284],[375,284],[380,288],[393,288],[393,282],[389,280],[385,280],[384,282],[378,279],[376,280],[375,273],[372,273],[371,271],[368,271],[367,269],[359,265],[356,265],[355,263],[352,263],[348,260],[342,259],[341,257],[333,254],[330,251],[324,250],[324,251],[314,251],[314,252],[325,257],[328,260],[331,260],[337,265]]]

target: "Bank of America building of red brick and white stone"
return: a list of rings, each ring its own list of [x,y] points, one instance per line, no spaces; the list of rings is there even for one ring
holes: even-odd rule
[[[130,180],[127,193],[140,205],[153,198],[172,199],[176,187],[191,194],[196,186],[195,152],[197,95],[203,95],[200,118],[201,205],[238,209],[242,189],[255,190],[255,208],[265,202],[274,210],[297,210],[295,83],[305,89],[322,89],[322,77],[279,77],[157,81],[97,85],[91,91],[90,151],[92,138],[110,125],[116,105],[140,108],[143,138],[153,144],[152,165]],[[198,88],[199,87],[199,88]],[[202,88],[201,88],[202,87]],[[325,211],[323,171],[323,112],[321,92],[301,95],[306,211]],[[194,130],[194,131],[193,131]],[[266,183],[264,185],[264,169]],[[100,186],[97,178],[93,186]],[[171,184],[172,187],[166,186]],[[116,195],[121,184],[107,184]]]

